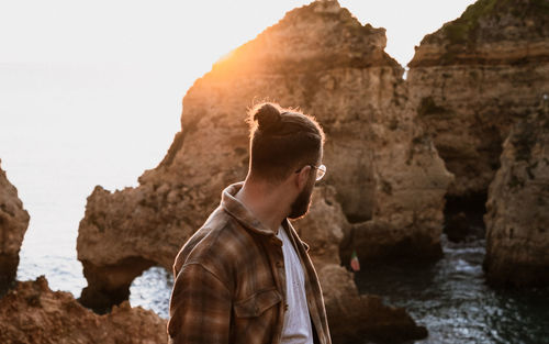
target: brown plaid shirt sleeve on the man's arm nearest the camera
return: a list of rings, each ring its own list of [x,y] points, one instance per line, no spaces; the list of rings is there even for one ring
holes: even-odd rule
[[[170,344],[229,342],[232,298],[227,287],[199,264],[186,265],[176,277],[170,299]]]

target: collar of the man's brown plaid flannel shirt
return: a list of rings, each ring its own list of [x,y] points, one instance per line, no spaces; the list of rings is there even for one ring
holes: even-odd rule
[[[236,193],[244,186],[244,181],[235,182],[229,185],[223,190],[221,195],[221,207],[233,215],[238,222],[240,222],[245,228],[264,235],[274,235],[274,233],[266,228],[254,213],[246,208],[238,199],[236,199]],[[288,219],[284,219],[282,225],[285,229],[291,228]]]

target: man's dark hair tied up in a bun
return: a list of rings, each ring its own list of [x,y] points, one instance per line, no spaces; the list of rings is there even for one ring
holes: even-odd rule
[[[316,164],[324,131],[313,116],[265,102],[248,112],[247,121],[254,175],[282,180],[300,164]]]

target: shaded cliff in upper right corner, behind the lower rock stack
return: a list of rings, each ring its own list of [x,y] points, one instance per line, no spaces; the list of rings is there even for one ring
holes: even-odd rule
[[[455,174],[449,195],[485,193],[511,126],[549,91],[549,4],[479,0],[425,36],[410,100]]]

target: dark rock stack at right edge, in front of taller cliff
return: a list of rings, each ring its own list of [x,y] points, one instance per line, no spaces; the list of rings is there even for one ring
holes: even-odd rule
[[[484,269],[493,285],[549,285],[549,99],[518,122],[490,186]]]

